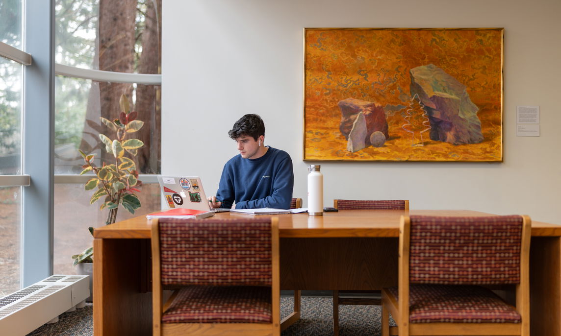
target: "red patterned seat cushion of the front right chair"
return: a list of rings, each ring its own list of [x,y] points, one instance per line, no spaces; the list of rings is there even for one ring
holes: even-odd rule
[[[387,289],[398,297],[398,288]],[[480,286],[411,284],[410,323],[519,323],[513,306]]]

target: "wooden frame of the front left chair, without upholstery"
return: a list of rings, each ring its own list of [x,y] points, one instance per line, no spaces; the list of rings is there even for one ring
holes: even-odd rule
[[[163,303],[159,222],[157,220],[153,220],[151,232],[153,336],[280,336],[279,230],[277,217],[271,219],[272,323],[161,323],[163,312],[171,305],[178,291],[175,291],[165,304]]]

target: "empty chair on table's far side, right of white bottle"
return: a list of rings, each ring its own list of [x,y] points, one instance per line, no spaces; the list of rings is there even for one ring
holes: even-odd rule
[[[409,200],[355,200],[334,199],[333,207],[339,210],[408,210]],[[333,334],[339,335],[339,305],[381,304],[380,291],[333,291]]]

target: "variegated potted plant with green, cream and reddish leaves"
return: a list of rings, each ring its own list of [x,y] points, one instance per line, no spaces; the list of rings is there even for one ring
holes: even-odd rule
[[[138,180],[139,174],[133,159],[136,157],[138,149],[144,146],[144,143],[139,139],[127,137],[140,130],[144,122],[136,119],[136,111],[130,111],[130,105],[125,95],[121,96],[119,106],[121,107],[121,113],[118,119],[111,121],[100,117],[102,123],[115,134],[113,139],[105,134],[99,134],[99,139],[105,145],[105,150],[113,155],[114,161],[103,162],[102,166],[99,167],[93,163],[95,154],[86,155],[79,150],[85,161],[80,175],[90,171],[94,173],[94,177],[89,179],[84,187],[85,190],[96,189],[94,194],[91,195],[90,204],[103,200],[99,209],[109,209],[105,221],[106,225],[116,221],[119,205],[130,213],[135,213],[135,210],[140,208],[140,200],[135,194],[140,190],[135,187],[139,186],[141,181]],[[89,228],[92,235],[93,230],[93,227]],[[73,255],[72,259],[74,259],[73,264],[75,266],[84,267],[85,264],[90,264],[91,267],[93,248],[88,248],[80,254]],[[91,274],[91,272],[88,273],[88,270],[85,270],[85,273]]]

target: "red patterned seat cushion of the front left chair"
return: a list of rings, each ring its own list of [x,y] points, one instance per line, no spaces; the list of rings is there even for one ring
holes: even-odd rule
[[[162,323],[270,323],[271,288],[188,286],[162,315]]]

